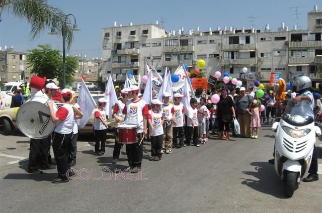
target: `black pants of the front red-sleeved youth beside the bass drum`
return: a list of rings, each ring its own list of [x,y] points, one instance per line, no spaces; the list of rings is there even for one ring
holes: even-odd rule
[[[58,177],[63,179],[67,178],[66,173],[70,168],[68,166],[67,147],[71,143],[71,136],[72,133],[60,134],[54,132],[52,140],[52,149],[57,163]]]

